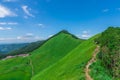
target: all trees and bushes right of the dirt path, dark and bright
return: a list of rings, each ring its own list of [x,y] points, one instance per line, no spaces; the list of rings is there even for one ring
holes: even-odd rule
[[[120,27],[109,27],[96,41],[101,50],[91,67],[92,76],[95,80],[120,80]]]

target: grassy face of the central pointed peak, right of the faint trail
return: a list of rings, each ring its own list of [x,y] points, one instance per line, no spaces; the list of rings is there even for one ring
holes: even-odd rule
[[[42,47],[31,53],[34,73],[38,73],[63,58],[83,40],[74,38],[69,33],[61,31],[50,38]]]

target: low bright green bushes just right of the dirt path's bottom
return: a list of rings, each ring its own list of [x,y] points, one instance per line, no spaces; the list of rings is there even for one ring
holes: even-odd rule
[[[97,59],[90,67],[90,75],[94,80],[113,80],[109,70],[103,66],[101,60]]]

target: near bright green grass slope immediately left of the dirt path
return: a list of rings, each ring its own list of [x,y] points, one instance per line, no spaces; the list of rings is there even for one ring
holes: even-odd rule
[[[84,41],[65,57],[44,71],[35,75],[32,80],[85,80],[85,65],[96,48],[93,38]]]

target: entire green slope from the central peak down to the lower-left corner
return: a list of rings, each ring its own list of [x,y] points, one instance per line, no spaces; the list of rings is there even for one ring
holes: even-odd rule
[[[68,32],[61,31],[28,57],[0,60],[0,80],[30,80],[33,75],[55,64],[82,42]]]

